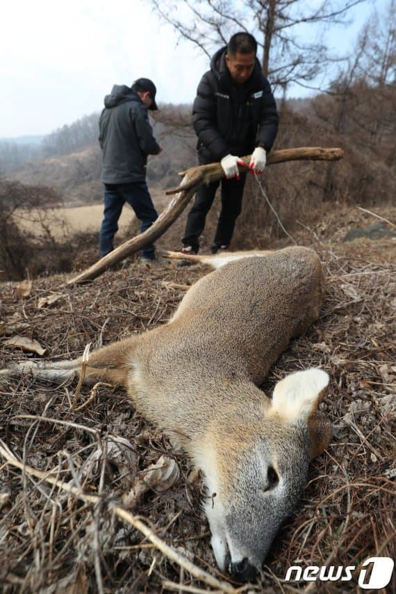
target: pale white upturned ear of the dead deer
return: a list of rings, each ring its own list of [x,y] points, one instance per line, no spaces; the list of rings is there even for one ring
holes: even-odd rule
[[[275,386],[271,411],[290,421],[308,420],[319,406],[328,383],[329,376],[321,369],[292,373]]]

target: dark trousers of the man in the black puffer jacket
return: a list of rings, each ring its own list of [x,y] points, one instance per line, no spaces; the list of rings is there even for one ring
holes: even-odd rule
[[[236,219],[242,210],[245,181],[246,174],[242,174],[239,181],[236,179],[222,179],[221,181],[222,210],[217,222],[215,245],[229,245],[231,243]],[[195,251],[199,249],[199,236],[204,231],[206,215],[211,209],[219,184],[220,181],[214,181],[208,185],[201,185],[195,195],[194,206],[188,213],[182,242],[183,245],[191,245]]]

